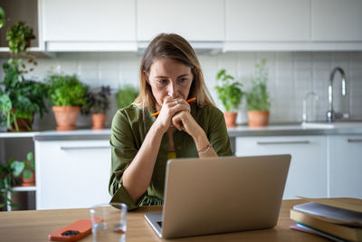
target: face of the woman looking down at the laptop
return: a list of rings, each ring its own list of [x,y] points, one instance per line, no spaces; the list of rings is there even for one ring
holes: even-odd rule
[[[191,67],[186,64],[167,58],[154,61],[147,81],[156,99],[157,111],[161,109],[167,96],[174,99],[186,99],[193,80],[194,75],[191,72]]]

